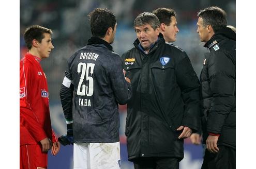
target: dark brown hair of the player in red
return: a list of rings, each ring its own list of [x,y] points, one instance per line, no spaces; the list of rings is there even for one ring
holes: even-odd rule
[[[32,25],[25,29],[24,40],[29,50],[32,48],[32,41],[34,39],[41,43],[42,39],[44,38],[43,33],[49,33],[52,35],[52,30],[39,25]]]

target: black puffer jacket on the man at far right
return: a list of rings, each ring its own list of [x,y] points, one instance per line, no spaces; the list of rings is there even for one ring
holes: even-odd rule
[[[204,45],[201,72],[203,141],[208,133],[220,134],[218,145],[235,148],[235,32],[223,28]]]

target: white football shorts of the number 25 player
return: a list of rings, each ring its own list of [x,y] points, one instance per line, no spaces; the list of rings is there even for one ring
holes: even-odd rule
[[[73,169],[120,169],[120,143],[74,143]]]

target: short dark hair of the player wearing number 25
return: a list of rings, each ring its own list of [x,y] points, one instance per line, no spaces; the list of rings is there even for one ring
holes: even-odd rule
[[[108,9],[96,8],[88,14],[94,37],[103,38],[109,27],[115,28],[115,15]]]

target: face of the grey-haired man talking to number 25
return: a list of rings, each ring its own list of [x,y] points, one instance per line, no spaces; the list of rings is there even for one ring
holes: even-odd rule
[[[149,49],[154,44],[159,35],[159,28],[154,30],[150,25],[135,26],[135,32],[140,44],[144,49]]]

